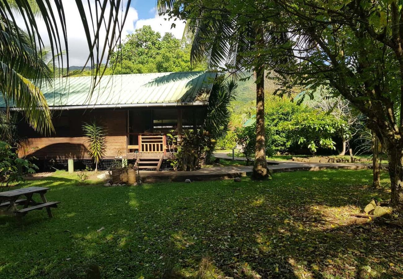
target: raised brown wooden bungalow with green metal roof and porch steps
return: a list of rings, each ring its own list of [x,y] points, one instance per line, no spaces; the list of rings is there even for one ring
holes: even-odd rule
[[[166,134],[202,125],[215,76],[211,72],[104,76],[92,96],[90,76],[56,79],[52,87],[42,88],[55,133],[38,134],[21,121],[18,155],[90,159],[81,126],[95,119],[108,131],[104,159],[140,158],[144,168],[158,169],[169,152]]]

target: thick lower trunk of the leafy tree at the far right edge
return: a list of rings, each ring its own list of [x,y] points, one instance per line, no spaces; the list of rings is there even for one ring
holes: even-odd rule
[[[403,150],[394,145],[386,145],[391,177],[391,204],[403,211]]]

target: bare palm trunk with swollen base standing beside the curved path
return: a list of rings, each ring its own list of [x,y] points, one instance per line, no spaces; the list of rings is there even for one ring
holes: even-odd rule
[[[253,165],[253,179],[266,179],[269,176],[266,161],[264,125],[264,67],[256,67],[256,151]]]

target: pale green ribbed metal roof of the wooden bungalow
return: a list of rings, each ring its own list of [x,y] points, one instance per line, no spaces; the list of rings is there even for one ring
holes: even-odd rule
[[[178,72],[56,78],[41,88],[53,109],[206,105],[216,73]],[[0,100],[0,107],[4,102]]]

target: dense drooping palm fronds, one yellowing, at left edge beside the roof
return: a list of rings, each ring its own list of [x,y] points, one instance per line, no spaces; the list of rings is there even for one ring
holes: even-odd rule
[[[28,123],[36,130],[53,129],[51,114],[39,83],[50,84],[52,72],[32,44],[29,35],[0,17],[0,90],[7,108],[23,108]],[[9,117],[9,112],[6,113]]]

